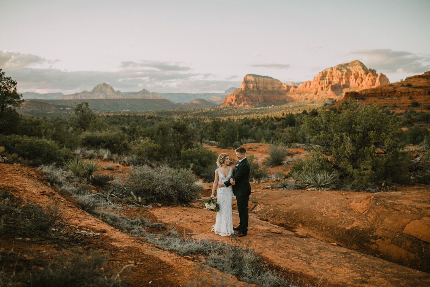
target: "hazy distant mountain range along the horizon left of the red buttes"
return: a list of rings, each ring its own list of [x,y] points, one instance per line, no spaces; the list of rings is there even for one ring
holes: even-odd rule
[[[227,89],[224,93],[154,93],[147,89],[142,89],[139,92],[121,92],[115,90],[107,83],[101,83],[95,86],[90,92],[83,91],[70,95],[63,93],[22,93],[22,98],[27,99],[43,99],[43,100],[87,100],[87,99],[168,99],[173,103],[188,103],[196,99],[203,99],[212,102],[216,105],[222,103],[224,98],[232,93],[236,88]]]

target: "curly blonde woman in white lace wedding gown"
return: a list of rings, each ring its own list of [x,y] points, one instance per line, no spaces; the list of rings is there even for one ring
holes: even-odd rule
[[[215,170],[215,181],[212,186],[211,198],[217,199],[219,204],[219,211],[216,214],[215,225],[212,226],[212,231],[221,236],[234,234],[233,231],[233,214],[231,212],[231,205],[233,202],[233,187],[218,187],[218,181],[222,182],[230,179],[233,176],[233,168],[229,167],[230,157],[228,154],[220,154],[216,161],[218,168]],[[214,197],[215,189],[217,189],[217,196]]]

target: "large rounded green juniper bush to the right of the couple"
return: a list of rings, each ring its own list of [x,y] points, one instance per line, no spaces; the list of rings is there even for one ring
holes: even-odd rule
[[[396,114],[378,105],[359,106],[349,99],[341,114],[324,109],[317,117],[304,117],[303,130],[318,150],[330,156],[339,178],[355,188],[374,182],[406,182],[410,160],[402,152],[402,129]]]

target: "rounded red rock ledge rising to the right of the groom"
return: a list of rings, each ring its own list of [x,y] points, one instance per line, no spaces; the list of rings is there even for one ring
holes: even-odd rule
[[[263,189],[253,192],[261,219],[327,242],[430,271],[430,187],[390,192]]]

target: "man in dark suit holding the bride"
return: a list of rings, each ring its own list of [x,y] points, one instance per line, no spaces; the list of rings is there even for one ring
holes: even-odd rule
[[[218,187],[233,185],[233,194],[236,196],[237,210],[239,211],[239,226],[234,230],[239,230],[237,236],[243,237],[248,233],[248,201],[251,194],[249,184],[249,162],[246,159],[246,148],[236,149],[237,162],[234,165],[234,175],[230,180],[218,182]]]

